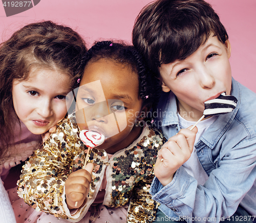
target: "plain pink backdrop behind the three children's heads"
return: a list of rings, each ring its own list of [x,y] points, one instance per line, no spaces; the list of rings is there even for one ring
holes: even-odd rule
[[[232,47],[230,63],[233,77],[256,93],[256,0],[206,1],[217,11],[227,29]],[[41,0],[32,9],[10,17],[6,17],[1,3],[0,40],[6,40],[14,31],[28,23],[53,20],[75,29],[84,37],[88,47],[100,39],[124,39],[131,42],[135,18],[142,7],[150,2],[152,1]]]

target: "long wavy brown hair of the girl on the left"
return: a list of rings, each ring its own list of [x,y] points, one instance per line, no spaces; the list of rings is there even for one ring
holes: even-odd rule
[[[33,65],[58,69],[71,77],[71,86],[83,73],[81,59],[87,52],[81,36],[52,21],[29,24],[0,44],[0,157],[13,143],[18,117],[12,100],[13,80],[29,78]]]

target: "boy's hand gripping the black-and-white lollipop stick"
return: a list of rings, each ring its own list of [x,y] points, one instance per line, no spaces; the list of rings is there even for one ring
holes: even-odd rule
[[[190,127],[181,129],[158,151],[154,172],[163,186],[172,182],[177,169],[189,159],[193,152],[197,128],[189,130]]]

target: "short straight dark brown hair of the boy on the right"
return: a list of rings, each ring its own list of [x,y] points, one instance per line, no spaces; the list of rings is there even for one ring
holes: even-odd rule
[[[223,43],[227,32],[217,13],[203,0],[158,0],[146,5],[133,29],[133,44],[159,76],[161,63],[183,60],[213,33]]]

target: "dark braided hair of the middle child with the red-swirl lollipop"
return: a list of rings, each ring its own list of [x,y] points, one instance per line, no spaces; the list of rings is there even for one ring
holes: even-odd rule
[[[133,46],[122,41],[95,42],[84,56],[83,63],[86,66],[89,62],[96,62],[102,58],[130,65],[138,74],[139,96],[143,101],[142,105],[155,106],[161,92],[160,82],[149,72],[141,55]]]

